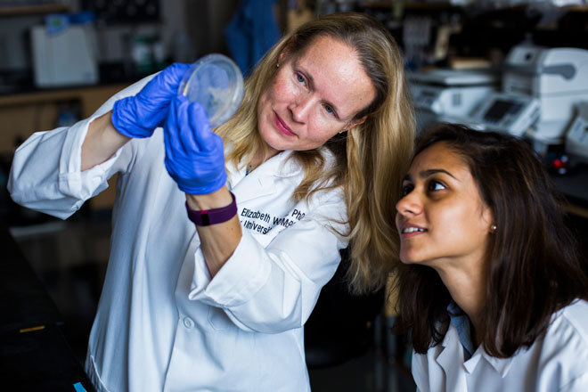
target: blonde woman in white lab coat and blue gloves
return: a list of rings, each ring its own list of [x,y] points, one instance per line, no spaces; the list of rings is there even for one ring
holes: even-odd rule
[[[413,136],[400,55],[366,15],[309,22],[215,133],[176,94],[185,71],[31,136],[12,198],[65,218],[120,173],[86,360],[98,390],[308,390],[302,327],[339,249],[359,291],[397,254],[389,216]]]

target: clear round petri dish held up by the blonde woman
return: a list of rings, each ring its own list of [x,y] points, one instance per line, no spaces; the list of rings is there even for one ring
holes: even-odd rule
[[[243,76],[233,60],[212,53],[194,62],[180,82],[178,94],[199,102],[210,127],[218,127],[233,117],[243,98]]]

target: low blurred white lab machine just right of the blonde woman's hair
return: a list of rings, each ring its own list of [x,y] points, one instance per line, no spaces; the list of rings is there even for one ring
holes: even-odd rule
[[[431,69],[407,78],[419,131],[436,121],[463,122],[499,86],[499,76],[490,69]]]

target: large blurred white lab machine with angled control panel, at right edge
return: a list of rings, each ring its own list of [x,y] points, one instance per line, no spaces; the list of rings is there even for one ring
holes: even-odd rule
[[[526,135],[535,149],[546,149],[563,142],[580,101],[588,101],[588,51],[517,45],[505,61],[502,92],[491,94],[469,122]]]

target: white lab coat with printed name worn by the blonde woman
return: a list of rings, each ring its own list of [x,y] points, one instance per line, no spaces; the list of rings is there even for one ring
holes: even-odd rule
[[[91,118],[32,135],[16,152],[9,190],[18,203],[66,218],[119,173],[110,261],[86,372],[99,391],[309,390],[303,328],[347,242],[342,192],[294,202],[303,171],[284,151],[245,176],[228,167],[243,235],[210,280],[184,192],[163,165],[163,133],[134,139],[80,172]]]

